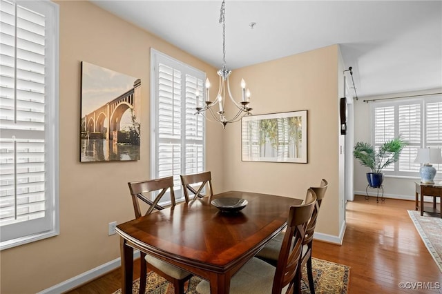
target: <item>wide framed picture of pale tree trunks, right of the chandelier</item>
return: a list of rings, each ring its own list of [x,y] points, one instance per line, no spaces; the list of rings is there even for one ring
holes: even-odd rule
[[[307,164],[307,110],[242,117],[242,161]]]

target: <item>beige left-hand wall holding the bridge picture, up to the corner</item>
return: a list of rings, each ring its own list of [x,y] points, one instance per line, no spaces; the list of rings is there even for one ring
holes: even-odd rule
[[[87,1],[60,1],[60,235],[1,251],[5,294],[36,293],[119,257],[108,222],[133,219],[127,182],[150,177],[151,47],[207,72],[215,68]],[[80,62],[142,80],[140,161],[79,163]],[[208,124],[207,169],[222,188],[218,126]]]

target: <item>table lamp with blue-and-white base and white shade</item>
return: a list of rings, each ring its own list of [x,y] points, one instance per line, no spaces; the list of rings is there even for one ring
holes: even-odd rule
[[[441,149],[419,148],[414,162],[423,164],[419,170],[419,173],[421,174],[421,183],[434,184],[436,168],[434,168],[432,164],[442,164]]]

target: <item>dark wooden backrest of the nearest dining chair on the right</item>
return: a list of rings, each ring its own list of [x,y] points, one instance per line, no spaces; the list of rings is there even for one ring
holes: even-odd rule
[[[305,204],[291,206],[287,219],[287,230],[282,240],[278,264],[276,264],[272,293],[281,293],[289,285],[287,293],[297,293],[300,287],[300,256],[302,241],[305,237],[307,222],[313,213],[316,195],[314,190],[307,190]],[[300,288],[299,288],[300,289]]]

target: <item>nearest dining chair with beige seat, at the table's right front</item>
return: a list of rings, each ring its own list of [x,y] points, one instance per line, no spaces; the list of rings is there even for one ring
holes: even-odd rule
[[[290,207],[287,229],[282,239],[276,267],[257,257],[252,257],[231,278],[229,293],[301,293],[300,255],[302,241],[305,238],[305,229],[315,203],[314,190],[309,189],[305,204]],[[196,291],[200,294],[209,294],[209,282],[202,280],[197,285]]]

